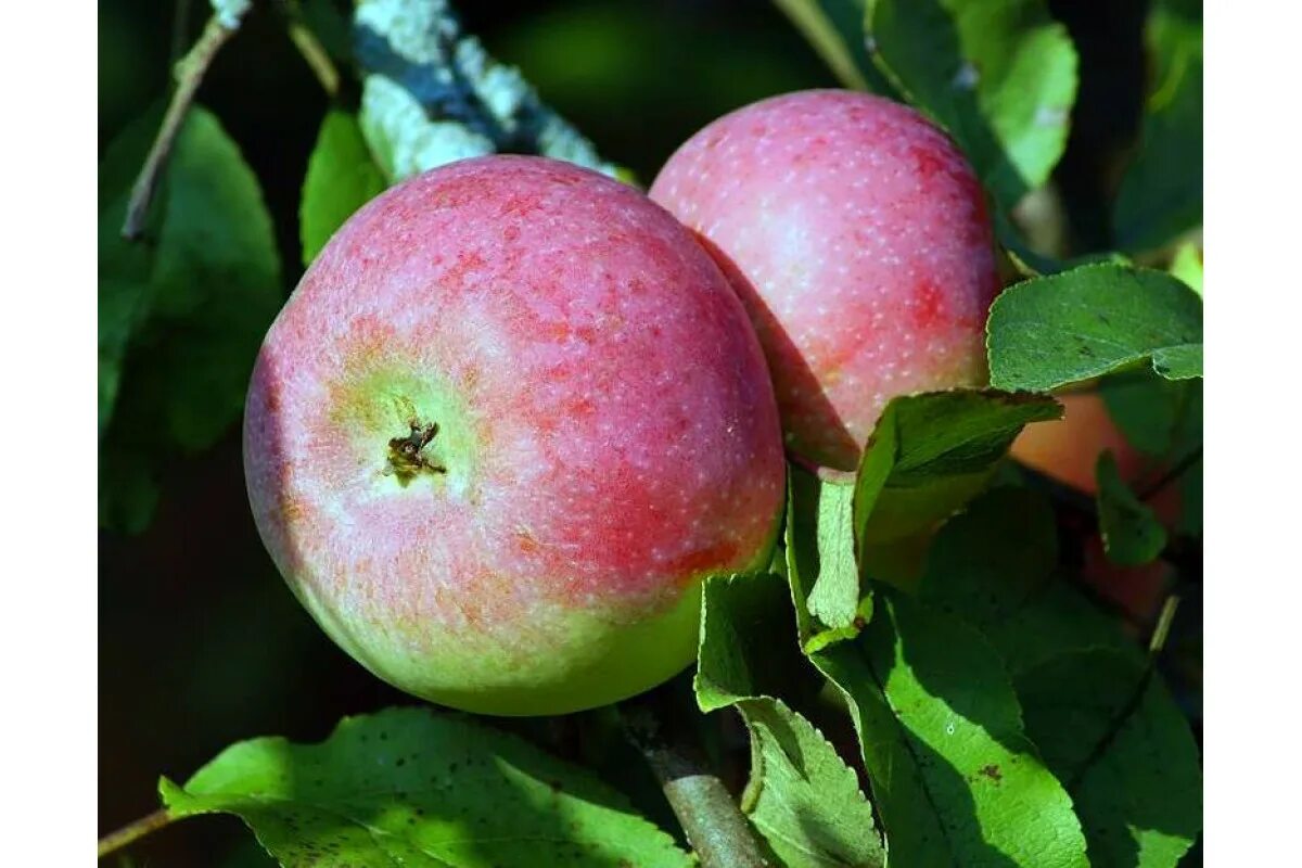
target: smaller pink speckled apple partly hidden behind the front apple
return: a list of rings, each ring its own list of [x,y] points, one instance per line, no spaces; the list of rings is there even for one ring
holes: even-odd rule
[[[984,194],[915,111],[836,90],[762,100],[691,137],[651,198],[741,295],[805,463],[854,471],[892,397],[987,383]]]

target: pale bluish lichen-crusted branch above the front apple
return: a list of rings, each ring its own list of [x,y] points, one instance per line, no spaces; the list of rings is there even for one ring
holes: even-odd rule
[[[447,0],[362,0],[353,23],[362,134],[391,182],[495,152],[539,154],[615,174],[518,70],[461,33]]]

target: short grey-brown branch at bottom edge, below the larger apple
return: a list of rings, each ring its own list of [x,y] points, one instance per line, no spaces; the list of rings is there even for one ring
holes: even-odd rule
[[[629,740],[660,782],[702,868],[767,868],[769,863],[728,787],[695,759],[689,746],[665,738],[650,703],[625,703],[620,714]]]

